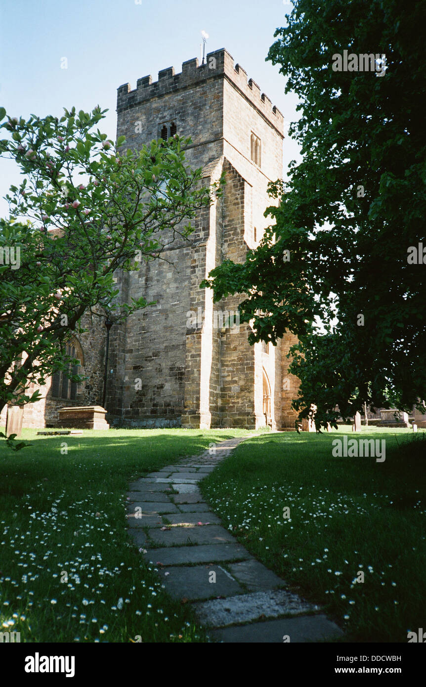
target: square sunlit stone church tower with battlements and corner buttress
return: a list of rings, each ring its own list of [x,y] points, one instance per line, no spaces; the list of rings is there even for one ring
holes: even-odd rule
[[[166,260],[121,274],[122,298],[144,295],[150,306],[111,330],[106,408],[114,422],[133,427],[293,427],[297,379],[285,354],[295,337],[247,342],[235,317],[240,297],[213,304],[200,289],[229,258],[243,262],[258,244],[273,201],[267,184],[282,177],[283,117],[225,50],[170,67],[117,91],[117,137],[140,149],[159,137],[191,137],[188,164],[203,181],[223,171],[223,197],[192,222],[188,240],[175,240]],[[230,313],[234,313],[229,317]],[[233,326],[232,326],[233,325]]]

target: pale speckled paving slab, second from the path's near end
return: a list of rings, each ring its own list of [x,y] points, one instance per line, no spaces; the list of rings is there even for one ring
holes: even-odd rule
[[[284,589],[254,592],[194,604],[194,611],[200,622],[207,627],[226,627],[237,622],[297,615],[316,609],[317,607]]]

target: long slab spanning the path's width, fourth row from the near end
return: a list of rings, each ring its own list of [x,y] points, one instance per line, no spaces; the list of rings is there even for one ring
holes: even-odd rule
[[[150,549],[144,557],[153,563],[181,565],[183,563],[222,563],[250,559],[252,556],[240,544],[201,544]]]

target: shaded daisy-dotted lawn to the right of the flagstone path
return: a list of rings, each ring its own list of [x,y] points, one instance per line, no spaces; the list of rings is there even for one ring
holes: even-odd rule
[[[253,438],[201,489],[224,526],[320,603],[346,641],[407,642],[426,627],[426,433],[363,427],[362,438],[385,439],[384,462],[333,457],[344,433],[359,436],[340,427]]]

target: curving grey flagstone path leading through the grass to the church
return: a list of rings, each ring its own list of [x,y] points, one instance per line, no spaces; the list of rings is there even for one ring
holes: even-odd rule
[[[218,442],[213,455],[185,458],[129,485],[128,531],[158,568],[170,596],[192,603],[219,642],[319,642],[342,635],[318,606],[286,589],[221,526],[198,482],[241,441]],[[214,574],[213,574],[214,573]]]

